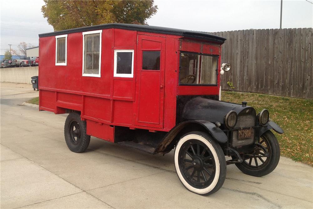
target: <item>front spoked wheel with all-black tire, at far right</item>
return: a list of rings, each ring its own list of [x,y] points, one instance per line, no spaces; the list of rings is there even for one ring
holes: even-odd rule
[[[280,148],[275,135],[266,131],[255,144],[253,152],[241,154],[242,163],[236,166],[244,174],[252,176],[264,176],[272,172],[280,159]],[[234,157],[233,157],[234,158]]]

